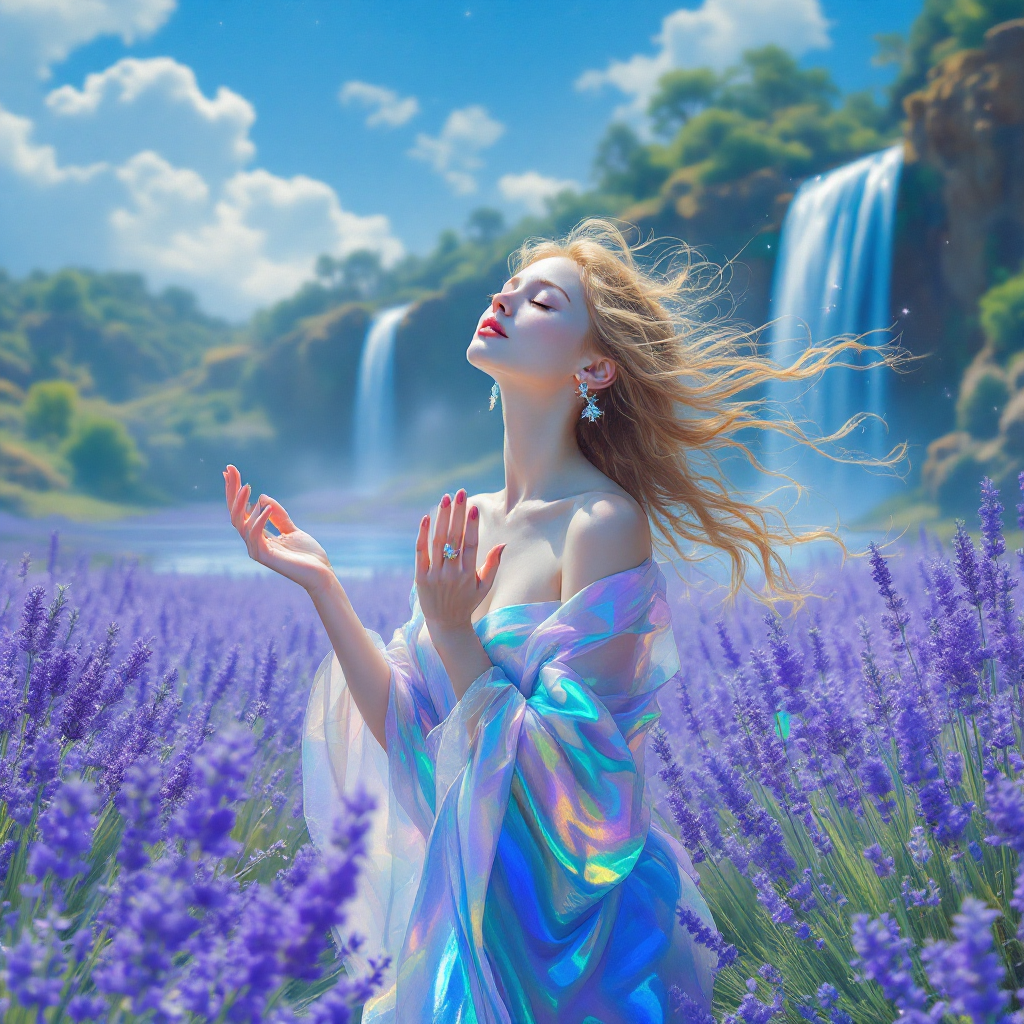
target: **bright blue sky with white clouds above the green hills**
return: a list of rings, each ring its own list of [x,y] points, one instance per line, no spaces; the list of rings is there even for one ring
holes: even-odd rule
[[[872,37],[920,6],[0,0],[0,266],[138,269],[241,317],[321,252],[395,259],[586,185],[668,68],[778,42],[881,89]]]

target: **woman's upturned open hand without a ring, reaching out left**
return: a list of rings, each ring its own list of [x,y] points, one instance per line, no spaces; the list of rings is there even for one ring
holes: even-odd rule
[[[266,495],[260,495],[255,506],[250,506],[250,495],[249,484],[243,485],[239,471],[228,466],[224,470],[227,511],[231,525],[246,542],[249,557],[306,590],[334,579],[327,552],[292,522],[284,506]],[[279,537],[266,532],[267,520],[280,530]]]

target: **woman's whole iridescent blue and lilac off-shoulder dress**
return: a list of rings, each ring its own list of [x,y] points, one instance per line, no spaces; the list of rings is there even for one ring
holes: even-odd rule
[[[385,753],[334,654],[303,734],[306,821],[324,844],[340,794],[378,814],[346,927],[385,952],[362,1024],[657,1024],[669,986],[710,1008],[712,924],[686,852],[658,823],[645,740],[679,671],[650,558],[564,603],[509,605],[475,629],[493,668],[456,701],[424,625],[385,647]],[[650,769],[648,769],[650,770]]]

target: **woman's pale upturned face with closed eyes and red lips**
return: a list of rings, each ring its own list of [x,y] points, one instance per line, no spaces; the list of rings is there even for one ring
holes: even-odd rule
[[[551,256],[510,278],[492,298],[466,358],[496,378],[562,386],[588,361],[589,330],[580,267]]]

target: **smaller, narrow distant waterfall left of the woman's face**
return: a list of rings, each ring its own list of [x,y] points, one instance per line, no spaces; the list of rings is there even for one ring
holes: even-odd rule
[[[370,322],[355,387],[355,484],[377,489],[395,470],[394,338],[409,306],[383,309]]]

